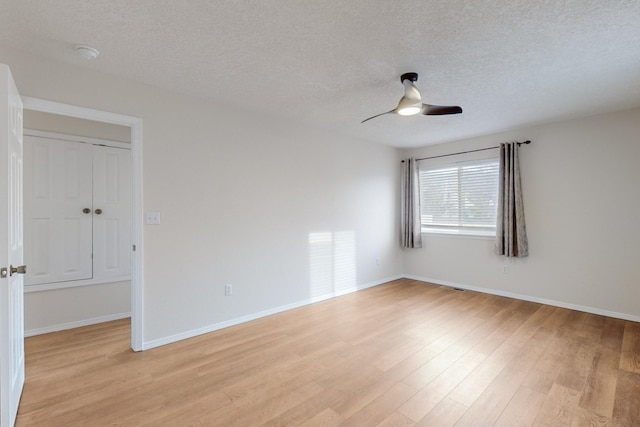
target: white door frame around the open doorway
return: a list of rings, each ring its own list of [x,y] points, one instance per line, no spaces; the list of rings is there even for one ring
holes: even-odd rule
[[[22,97],[23,109],[97,122],[126,126],[131,129],[132,171],[132,237],[135,250],[131,259],[131,348],[144,350],[144,239],[142,203],[142,119],[92,108],[63,104],[40,98]]]

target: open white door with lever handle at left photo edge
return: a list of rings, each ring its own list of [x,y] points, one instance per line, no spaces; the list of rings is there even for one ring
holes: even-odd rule
[[[10,427],[24,385],[22,100],[4,64],[0,80],[0,427]]]

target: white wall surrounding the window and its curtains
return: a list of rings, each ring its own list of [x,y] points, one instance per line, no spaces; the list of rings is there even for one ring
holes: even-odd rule
[[[493,241],[424,236],[406,275],[640,320],[640,109],[422,149],[416,158],[521,147],[530,256],[508,262]]]

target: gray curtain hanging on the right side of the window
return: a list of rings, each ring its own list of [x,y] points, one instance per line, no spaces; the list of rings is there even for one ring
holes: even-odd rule
[[[500,177],[495,252],[507,257],[529,255],[524,203],[520,186],[518,143],[500,144]]]

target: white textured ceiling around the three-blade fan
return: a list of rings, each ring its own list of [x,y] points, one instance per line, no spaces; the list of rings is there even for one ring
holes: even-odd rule
[[[638,0],[5,0],[0,37],[398,147],[640,105]],[[408,71],[424,102],[464,113],[360,124],[395,107]]]

